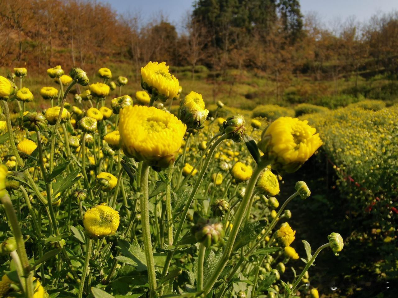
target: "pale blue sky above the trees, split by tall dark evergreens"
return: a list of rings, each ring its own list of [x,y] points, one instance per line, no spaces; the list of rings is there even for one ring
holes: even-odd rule
[[[183,15],[192,10],[191,0],[100,0],[107,2],[119,14],[138,12],[142,20],[148,21],[160,12],[168,21],[181,29]],[[356,16],[357,21],[366,21],[377,12],[398,10],[398,0],[301,0],[301,10],[317,12],[326,25],[334,19],[344,21],[347,17]]]

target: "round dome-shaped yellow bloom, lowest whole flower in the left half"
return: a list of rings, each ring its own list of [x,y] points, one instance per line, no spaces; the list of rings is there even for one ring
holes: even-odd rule
[[[119,223],[119,212],[105,203],[88,209],[83,217],[84,228],[90,236],[113,235],[119,227]]]

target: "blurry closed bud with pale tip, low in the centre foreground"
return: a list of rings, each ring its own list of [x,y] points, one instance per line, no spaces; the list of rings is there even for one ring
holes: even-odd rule
[[[224,228],[215,219],[199,219],[198,223],[192,227],[192,233],[196,240],[207,248],[224,238]]]

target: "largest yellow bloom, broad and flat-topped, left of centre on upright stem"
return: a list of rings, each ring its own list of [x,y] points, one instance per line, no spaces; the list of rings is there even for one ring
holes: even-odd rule
[[[120,112],[124,153],[153,166],[167,167],[175,160],[185,131],[176,116],[153,106],[126,106]]]

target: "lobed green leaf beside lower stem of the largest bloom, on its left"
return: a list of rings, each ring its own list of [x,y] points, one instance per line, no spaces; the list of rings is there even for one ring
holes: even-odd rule
[[[117,259],[122,263],[127,263],[136,267],[137,271],[146,271],[145,253],[141,252],[141,248],[137,241],[133,240],[130,244],[126,240],[117,240],[117,248],[121,254]]]

